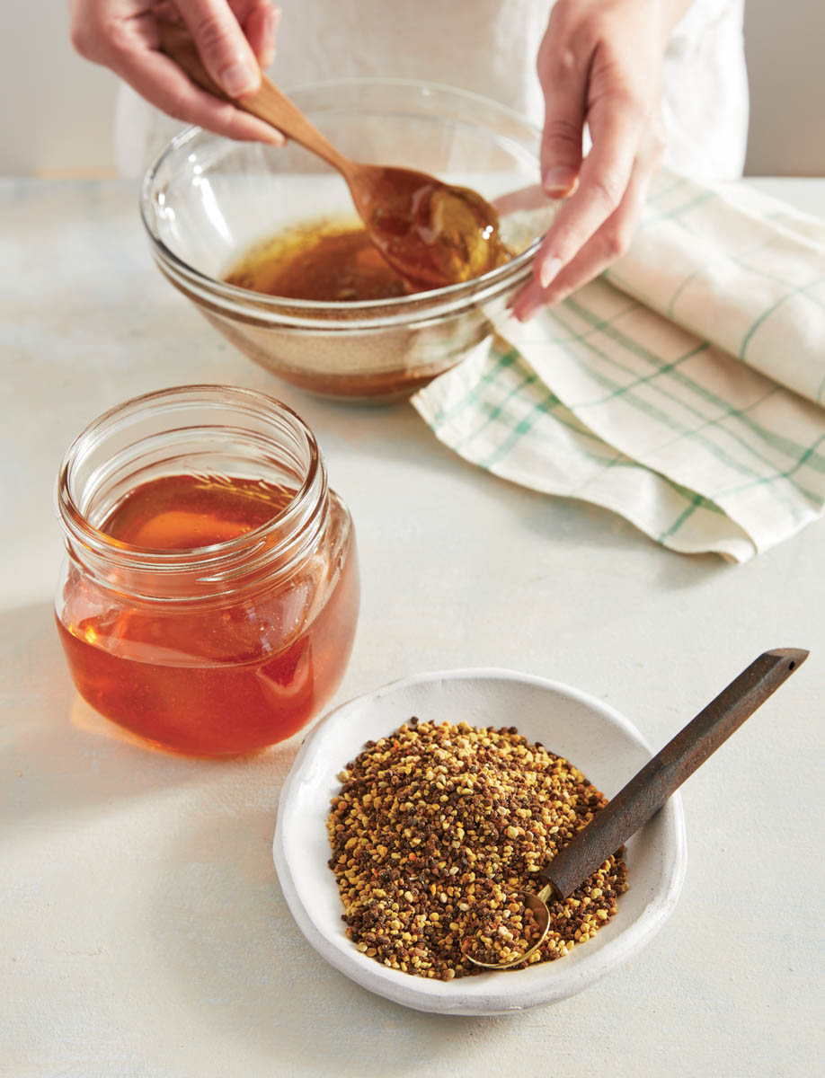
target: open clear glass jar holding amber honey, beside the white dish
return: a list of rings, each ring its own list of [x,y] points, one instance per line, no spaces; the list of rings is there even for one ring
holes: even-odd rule
[[[257,483],[285,502],[209,545],[107,534],[135,492],[170,476]],[[74,441],[57,503],[57,625],[78,691],[108,719],[180,752],[247,752],[295,733],[338,688],[358,612],[355,537],[315,437],[286,405],[223,386],[138,397]]]

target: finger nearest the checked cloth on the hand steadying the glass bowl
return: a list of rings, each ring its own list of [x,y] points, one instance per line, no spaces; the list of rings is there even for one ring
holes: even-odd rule
[[[661,162],[662,149],[663,140],[657,128],[637,158],[624,195],[614,212],[547,288],[542,288],[534,276],[515,298],[512,313],[519,321],[526,322],[541,307],[559,303],[627,252],[650,180]]]

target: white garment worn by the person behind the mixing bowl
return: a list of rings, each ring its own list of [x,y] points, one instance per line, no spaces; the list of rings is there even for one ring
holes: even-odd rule
[[[281,0],[270,74],[285,89],[353,77],[423,79],[495,98],[538,125],[536,54],[552,0]],[[689,176],[741,175],[747,134],[744,0],[693,0],[664,61],[665,163]],[[119,91],[115,155],[142,174],[180,124],[127,86]]]

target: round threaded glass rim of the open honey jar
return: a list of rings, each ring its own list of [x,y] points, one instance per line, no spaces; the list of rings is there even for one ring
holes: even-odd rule
[[[306,445],[308,460],[303,481],[284,509],[264,524],[220,542],[204,547],[161,550],[115,539],[86,517],[72,489],[73,472],[83,457],[97,448],[120,421],[152,406],[160,404],[174,406],[178,402],[181,407],[196,404],[219,406],[230,403],[238,406],[242,412],[247,411],[250,415],[257,414],[258,417],[265,418],[269,413],[273,418],[286,420],[292,432],[302,438]],[[140,441],[136,440],[133,445],[139,445]],[[319,486],[319,480],[322,496],[326,494],[326,473],[318,443],[312,429],[289,405],[259,390],[236,386],[214,384],[173,386],[141,393],[116,404],[83,428],[66,451],[60,464],[56,503],[68,536],[95,555],[111,555],[116,557],[120,565],[134,569],[151,569],[160,573],[181,570],[197,573],[208,571],[210,579],[215,579],[215,573],[220,575],[221,579],[231,579],[238,571],[245,575],[257,566],[258,561],[272,558],[277,548],[274,549],[269,544],[267,539],[277,529],[291,535],[294,526],[300,526],[299,519],[302,513],[305,515],[307,500],[312,498],[313,489]]]

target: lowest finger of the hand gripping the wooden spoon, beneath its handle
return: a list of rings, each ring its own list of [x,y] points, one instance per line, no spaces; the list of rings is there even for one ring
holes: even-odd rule
[[[284,136],[249,113],[198,89],[178,65],[151,49],[132,53],[118,69],[129,85],[163,112],[183,123],[242,141],[281,146]]]

